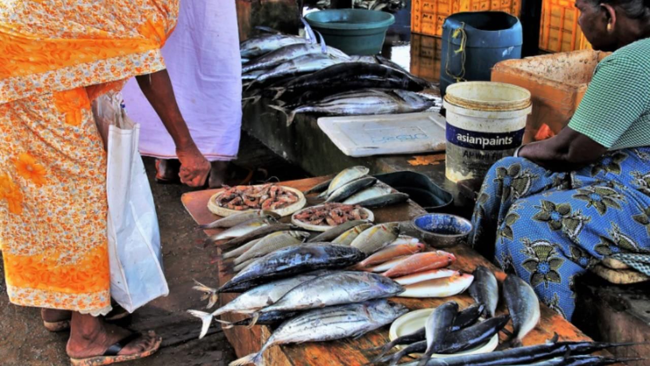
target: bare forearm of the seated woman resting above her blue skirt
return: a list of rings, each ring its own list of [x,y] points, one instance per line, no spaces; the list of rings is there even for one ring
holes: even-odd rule
[[[519,156],[552,171],[572,171],[595,162],[607,148],[569,127],[550,139],[525,145]]]

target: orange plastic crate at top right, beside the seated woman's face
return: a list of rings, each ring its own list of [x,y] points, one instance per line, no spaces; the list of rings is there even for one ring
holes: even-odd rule
[[[551,52],[590,49],[578,25],[580,12],[573,0],[543,0],[539,48]]]

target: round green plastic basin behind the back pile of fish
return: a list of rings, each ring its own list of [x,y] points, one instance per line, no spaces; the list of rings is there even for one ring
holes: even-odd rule
[[[305,20],[328,46],[348,55],[380,53],[386,31],[395,23],[393,14],[366,9],[320,10],[305,15]]]

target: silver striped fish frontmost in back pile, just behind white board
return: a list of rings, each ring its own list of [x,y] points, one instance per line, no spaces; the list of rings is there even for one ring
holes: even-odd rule
[[[318,113],[322,115],[387,115],[396,113],[413,113],[424,111],[434,106],[434,102],[411,91],[381,91],[361,89],[333,94],[322,100],[307,102],[289,109],[274,107],[287,115],[287,125],[295,119],[296,114]]]

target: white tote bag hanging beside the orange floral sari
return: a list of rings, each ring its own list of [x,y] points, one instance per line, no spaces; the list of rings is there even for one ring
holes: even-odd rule
[[[140,126],[127,117],[121,103],[121,94],[105,94],[96,101],[94,113],[100,132],[108,134],[110,296],[133,313],[167,296],[169,289],[153,195],[138,152]],[[101,126],[105,123],[108,129]]]

